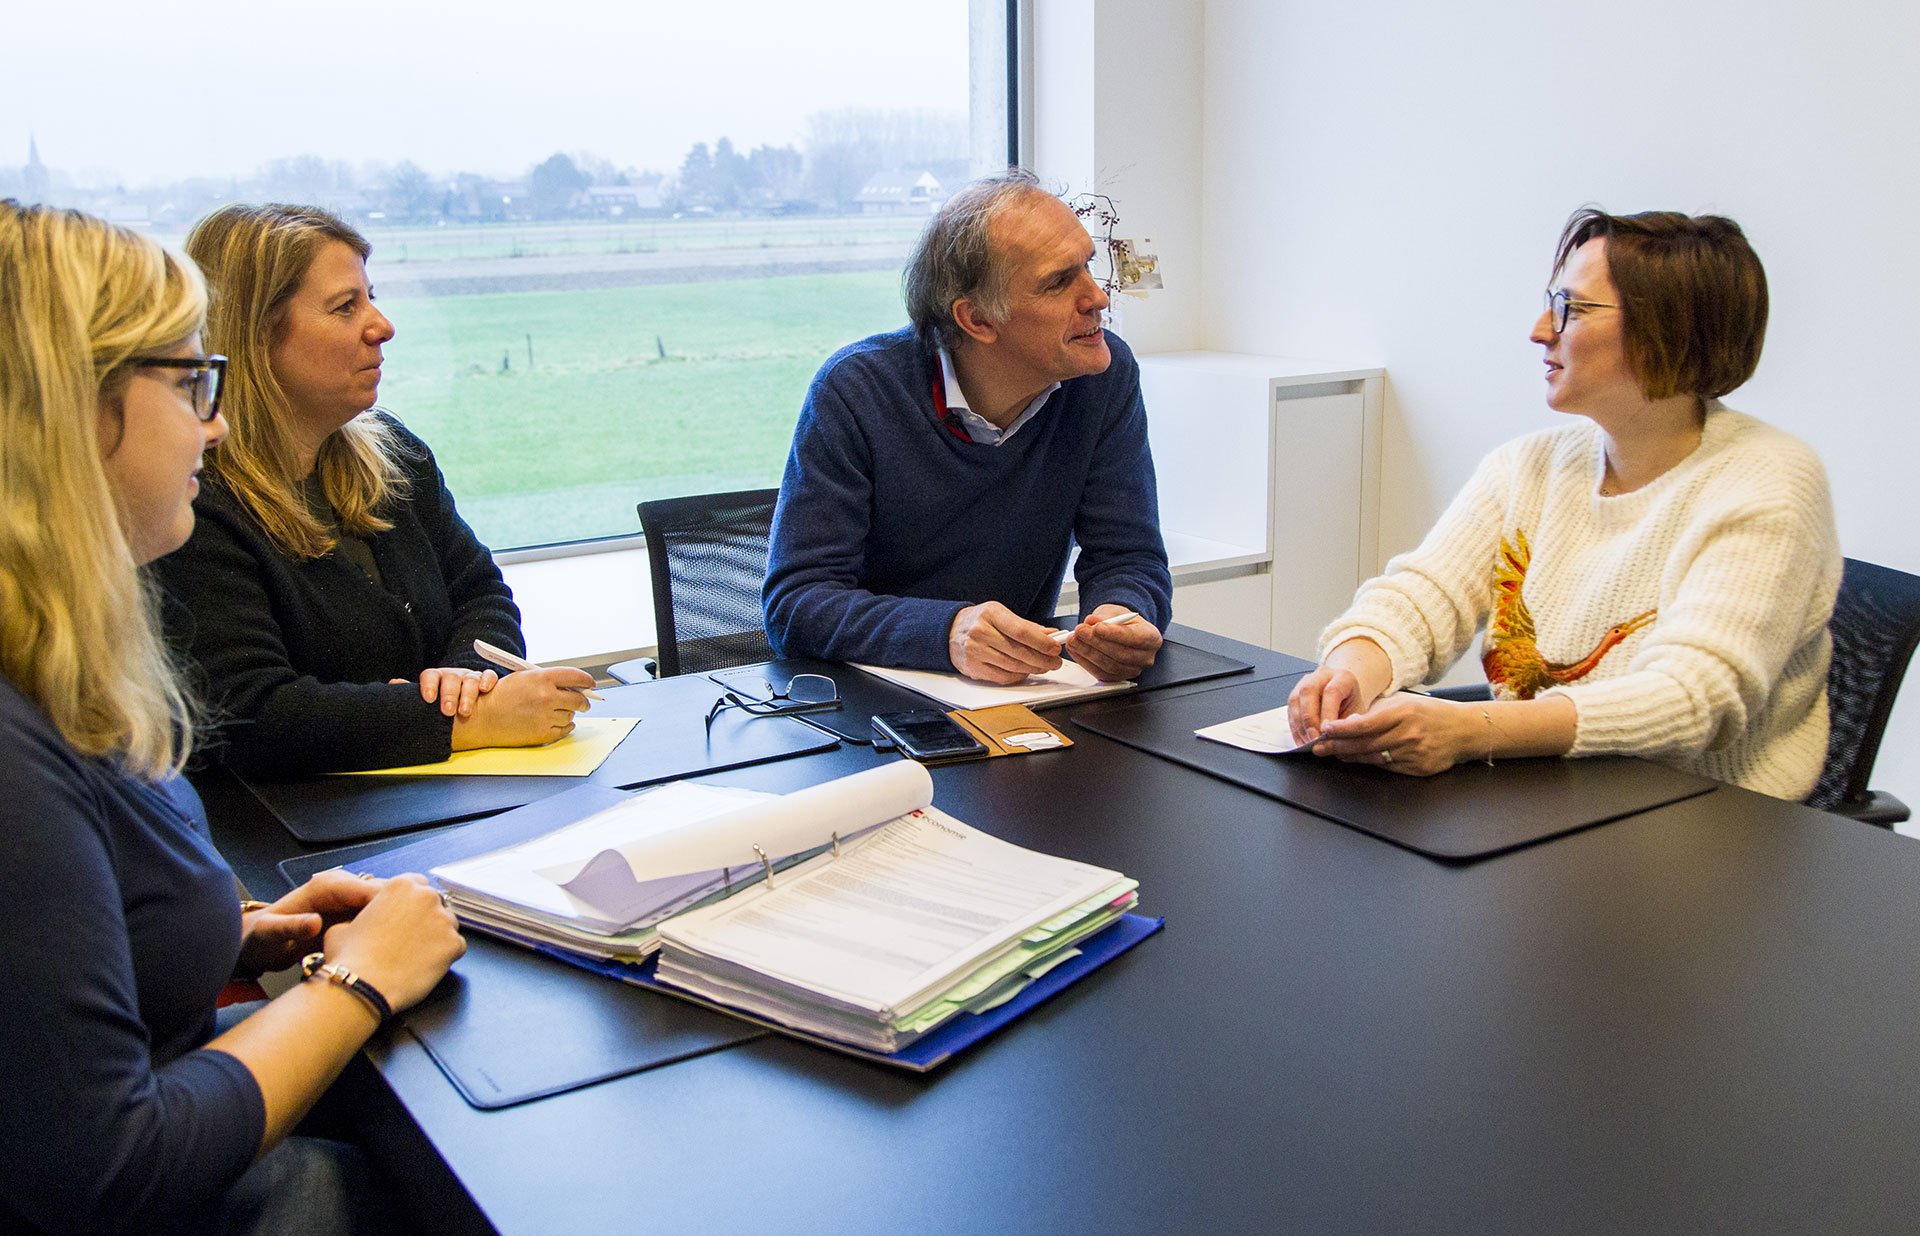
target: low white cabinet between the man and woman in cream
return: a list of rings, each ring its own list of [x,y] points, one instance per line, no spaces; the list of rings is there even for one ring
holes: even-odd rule
[[[1379,570],[1384,370],[1140,357],[1173,616],[1309,656]]]

